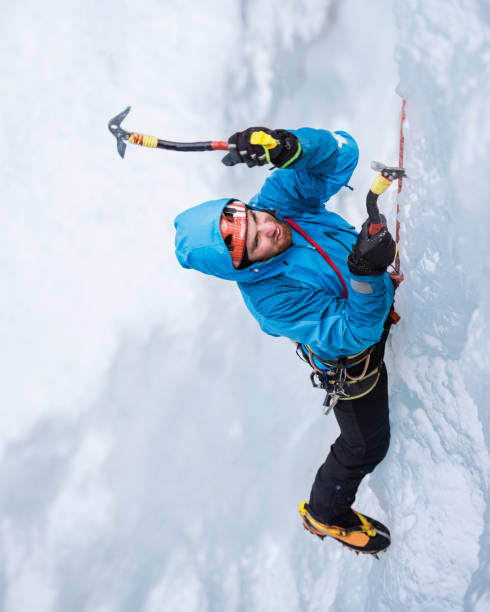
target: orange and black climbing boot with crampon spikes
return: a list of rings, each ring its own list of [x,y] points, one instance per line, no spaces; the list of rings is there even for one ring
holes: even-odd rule
[[[322,540],[325,536],[330,536],[357,553],[377,556],[377,553],[386,550],[390,545],[390,531],[387,527],[352,508],[331,525],[315,519],[306,502],[300,504],[299,513],[305,529]]]

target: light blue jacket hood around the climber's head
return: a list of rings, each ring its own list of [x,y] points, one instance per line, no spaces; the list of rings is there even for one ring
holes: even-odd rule
[[[244,270],[233,267],[219,228],[223,208],[233,199],[210,200],[176,217],[175,253],[180,265],[237,282],[254,282],[277,274],[284,253]]]

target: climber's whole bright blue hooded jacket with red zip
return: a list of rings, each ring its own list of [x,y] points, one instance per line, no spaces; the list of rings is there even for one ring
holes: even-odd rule
[[[296,221],[340,270],[347,298],[342,298],[336,272],[294,230],[286,251],[236,270],[219,229],[221,211],[232,198],[205,202],[176,218],[177,258],[184,268],[236,281],[266,333],[308,345],[325,360],[355,355],[380,339],[393,302],[388,274],[350,273],[347,256],[357,232],[324,206],[347,185],[357,165],[357,144],[346,132],[311,128],[291,132],[301,141],[301,157],[289,168],[271,173],[249,206],[273,209],[278,218]]]

